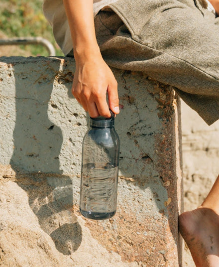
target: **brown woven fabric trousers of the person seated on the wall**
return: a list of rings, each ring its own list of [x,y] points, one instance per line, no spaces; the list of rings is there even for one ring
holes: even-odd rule
[[[95,24],[110,66],[172,85],[207,124],[219,119],[219,17],[196,0],[118,0]]]

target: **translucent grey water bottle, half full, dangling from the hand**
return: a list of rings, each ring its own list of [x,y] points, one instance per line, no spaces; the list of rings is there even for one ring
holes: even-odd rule
[[[94,220],[111,218],[116,212],[119,137],[111,118],[90,118],[83,139],[80,211]]]

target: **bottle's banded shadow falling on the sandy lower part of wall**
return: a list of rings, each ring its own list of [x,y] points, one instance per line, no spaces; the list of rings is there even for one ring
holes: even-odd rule
[[[48,173],[21,174],[16,183],[27,192],[30,208],[41,229],[64,255],[77,251],[82,241],[82,229],[73,212],[73,184],[68,176]]]

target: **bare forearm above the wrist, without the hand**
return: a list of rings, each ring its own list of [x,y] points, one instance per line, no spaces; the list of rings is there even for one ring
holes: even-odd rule
[[[96,40],[93,0],[63,0],[71,30],[74,55],[89,57],[100,54]]]

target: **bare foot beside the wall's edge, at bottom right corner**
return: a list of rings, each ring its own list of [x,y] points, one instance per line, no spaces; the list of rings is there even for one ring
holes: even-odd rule
[[[179,230],[196,267],[219,267],[219,215],[199,207],[179,217]]]

